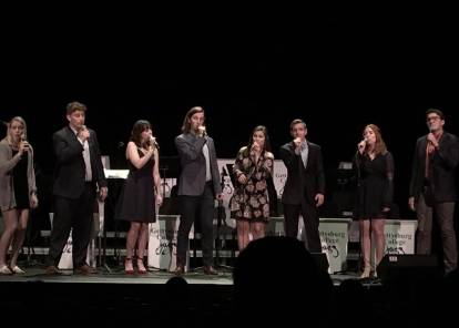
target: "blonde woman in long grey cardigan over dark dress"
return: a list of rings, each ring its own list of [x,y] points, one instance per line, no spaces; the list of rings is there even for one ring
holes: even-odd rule
[[[0,238],[0,275],[24,274],[18,263],[30,209],[38,206],[33,148],[27,141],[26,121],[16,116],[0,142],[0,207],[4,230]],[[11,258],[7,265],[7,253]]]

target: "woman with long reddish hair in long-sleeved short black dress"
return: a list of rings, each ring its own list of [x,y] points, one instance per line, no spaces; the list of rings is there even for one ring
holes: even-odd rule
[[[390,212],[394,195],[394,157],[387,151],[381,132],[368,124],[364,140],[357,145],[354,166],[358,177],[355,216],[359,219],[360,249],[364,269],[360,278],[376,277],[376,267],[385,252],[385,219]],[[375,270],[371,269],[371,234],[375,238]]]

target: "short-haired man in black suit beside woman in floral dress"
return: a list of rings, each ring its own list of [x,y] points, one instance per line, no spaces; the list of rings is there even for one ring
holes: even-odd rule
[[[288,174],[282,195],[285,234],[296,238],[302,214],[307,249],[322,253],[317,207],[324,203],[325,175],[320,146],[306,140],[306,123],[302,120],[290,123],[290,134],[294,140],[280,147]]]

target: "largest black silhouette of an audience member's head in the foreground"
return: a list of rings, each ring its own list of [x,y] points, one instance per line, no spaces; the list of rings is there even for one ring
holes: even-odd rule
[[[326,316],[332,305],[328,274],[295,238],[251,242],[236,259],[233,278],[235,309],[244,320],[305,324]]]

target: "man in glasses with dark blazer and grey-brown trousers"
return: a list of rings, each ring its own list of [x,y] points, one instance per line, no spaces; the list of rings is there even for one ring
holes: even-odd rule
[[[426,119],[430,132],[416,143],[408,205],[418,217],[417,254],[431,252],[435,211],[441,230],[445,271],[449,273],[458,262],[453,217],[459,144],[456,135],[443,130],[445,115],[440,110],[428,110]]]

